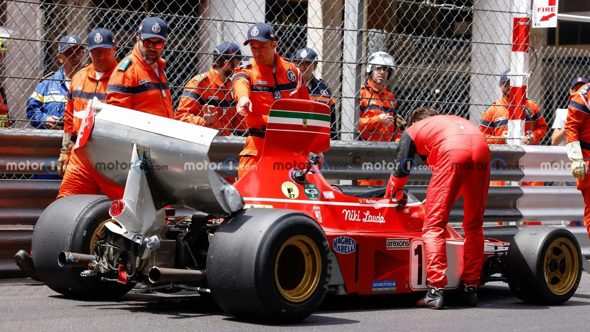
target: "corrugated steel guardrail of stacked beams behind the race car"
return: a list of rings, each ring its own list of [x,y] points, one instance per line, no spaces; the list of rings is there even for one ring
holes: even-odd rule
[[[57,173],[55,167],[62,135],[63,131],[47,129],[0,129],[0,173]],[[245,138],[238,136],[218,136],[212,144],[209,158],[218,163],[233,158],[237,164],[244,142]],[[324,152],[328,167],[322,171],[323,175],[333,180],[386,180],[391,169],[376,169],[375,165],[386,165],[394,160],[395,149],[396,144],[390,142],[332,141],[330,150]],[[506,165],[501,171],[491,172],[493,181],[574,181],[565,147],[491,146],[490,150],[491,158],[499,158]],[[9,162],[37,163],[44,167],[14,170],[8,169]],[[418,160],[418,168],[421,165],[424,164]],[[219,174],[231,177],[235,176],[235,170],[221,169]],[[411,180],[428,180],[430,174],[430,170],[421,168],[409,177]],[[0,278],[19,275],[14,265],[14,254],[18,249],[30,250],[34,224],[45,207],[57,197],[60,183],[59,180],[0,180]],[[340,187],[349,195],[375,188]],[[426,196],[427,186],[408,186],[408,189],[420,200]],[[462,218],[461,197],[453,206],[449,222],[458,223]],[[492,186],[484,214],[486,223],[583,219],[581,193],[576,187],[560,186]]]

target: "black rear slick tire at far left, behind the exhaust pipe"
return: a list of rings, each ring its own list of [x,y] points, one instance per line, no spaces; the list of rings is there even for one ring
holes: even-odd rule
[[[88,268],[58,264],[58,256],[63,251],[93,254],[91,243],[100,237],[95,231],[110,219],[112,201],[100,195],[66,196],[43,211],[32,236],[32,259],[47,287],[68,298],[91,300],[119,298],[135,287],[135,283],[119,285],[101,282],[99,276],[80,276],[80,272]]]

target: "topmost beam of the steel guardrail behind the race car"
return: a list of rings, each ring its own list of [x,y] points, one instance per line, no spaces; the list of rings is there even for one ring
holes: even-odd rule
[[[63,131],[49,129],[0,129],[0,173],[55,174],[62,136]],[[209,159],[219,165],[225,162],[225,167],[218,170],[220,175],[235,177],[244,143],[245,138],[240,136],[214,139]],[[394,166],[396,148],[394,142],[331,141],[329,151],[324,152],[326,166],[322,174],[329,180],[387,180]],[[490,151],[492,181],[575,181],[566,147],[491,145]],[[235,162],[227,163],[228,160]],[[13,163],[12,169],[8,168],[9,163]],[[14,170],[14,163],[44,166],[29,167],[25,172]],[[409,175],[411,180],[430,179],[432,171],[424,167],[418,156],[415,168]]]

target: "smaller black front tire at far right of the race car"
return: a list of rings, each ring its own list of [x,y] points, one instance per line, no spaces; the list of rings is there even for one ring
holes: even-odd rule
[[[522,301],[563,304],[575,293],[581,277],[580,246],[566,229],[527,226],[510,243],[506,278],[514,295]]]

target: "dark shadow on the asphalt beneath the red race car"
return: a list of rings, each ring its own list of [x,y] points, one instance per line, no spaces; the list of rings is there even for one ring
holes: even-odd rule
[[[32,284],[37,285],[37,284]],[[356,320],[344,318],[326,317],[319,314],[330,313],[358,313],[363,311],[385,311],[385,310],[415,310],[415,301],[422,297],[422,293],[417,294],[397,294],[397,295],[372,295],[358,297],[354,295],[330,295],[316,310],[316,312],[307,318],[303,323],[295,326],[330,326],[340,324],[360,323]],[[445,294],[445,310],[462,310],[471,309],[463,307],[460,304],[460,292],[447,292]],[[50,295],[51,298],[65,298],[62,295]],[[574,298],[590,298],[590,295],[575,294]],[[130,313],[149,313],[156,315],[168,315],[168,318],[197,318],[209,315],[222,316],[224,320],[236,321],[245,324],[257,324],[260,322],[245,321],[232,317],[222,311],[215,302],[209,298],[198,295],[197,292],[185,291],[176,294],[127,294],[117,301],[86,301],[86,300],[68,300],[78,301],[80,307],[93,307],[97,310],[125,310]],[[541,310],[549,309],[542,305],[527,304],[518,300],[512,295],[510,289],[505,286],[485,285],[478,290],[478,307],[477,310],[486,309],[506,309],[506,310]],[[578,307],[590,305],[590,302],[570,300],[563,304],[565,306]],[[266,325],[266,324],[262,324]],[[269,326],[277,326],[275,324]],[[290,324],[289,326],[293,326]]]

